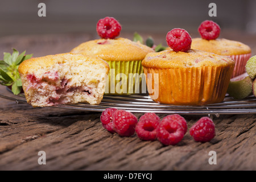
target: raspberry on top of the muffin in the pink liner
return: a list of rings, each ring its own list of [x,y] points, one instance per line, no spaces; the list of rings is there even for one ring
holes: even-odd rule
[[[217,23],[211,20],[205,20],[202,22],[198,28],[201,38],[207,40],[217,39],[220,35],[221,28]]]

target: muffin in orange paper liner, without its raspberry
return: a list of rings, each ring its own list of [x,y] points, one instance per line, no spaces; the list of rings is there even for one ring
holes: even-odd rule
[[[152,100],[172,105],[222,102],[234,64],[232,57],[197,49],[148,53],[142,61]]]

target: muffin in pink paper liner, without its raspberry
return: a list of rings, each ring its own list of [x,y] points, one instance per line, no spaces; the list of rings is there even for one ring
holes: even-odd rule
[[[232,57],[236,61],[232,77],[245,73],[246,62],[251,57],[251,48],[249,46],[223,38],[215,40],[194,38],[192,39],[191,48]]]

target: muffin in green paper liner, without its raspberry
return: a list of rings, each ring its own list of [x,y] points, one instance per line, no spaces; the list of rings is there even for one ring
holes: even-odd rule
[[[126,38],[115,38],[90,40],[71,52],[94,55],[109,64],[109,84],[105,94],[146,93],[141,61],[147,53],[155,52],[154,49]]]

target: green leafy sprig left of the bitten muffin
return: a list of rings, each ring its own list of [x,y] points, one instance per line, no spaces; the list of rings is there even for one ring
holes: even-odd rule
[[[20,53],[13,48],[13,54],[9,52],[3,53],[3,60],[0,60],[0,84],[11,86],[11,92],[15,95],[20,93],[22,89],[22,81],[20,80],[18,68],[24,60],[30,59],[31,55],[25,55],[26,51]]]

